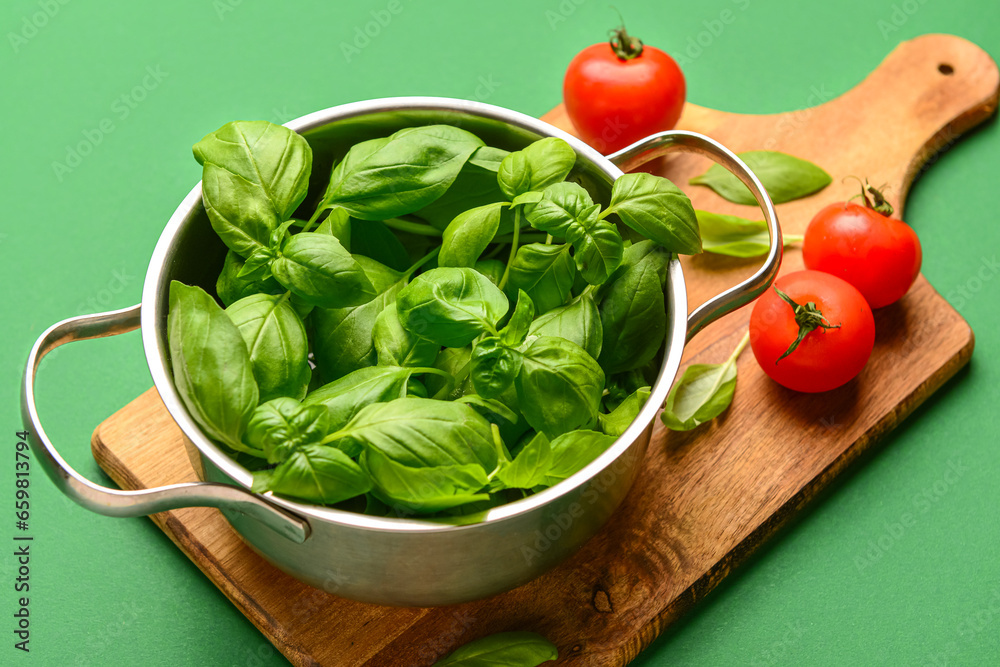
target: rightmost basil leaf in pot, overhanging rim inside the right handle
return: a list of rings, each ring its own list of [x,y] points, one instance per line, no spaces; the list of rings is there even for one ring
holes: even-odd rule
[[[611,188],[611,204],[601,217],[611,213],[671,252],[701,252],[691,200],[666,178],[645,172],[619,176]]]

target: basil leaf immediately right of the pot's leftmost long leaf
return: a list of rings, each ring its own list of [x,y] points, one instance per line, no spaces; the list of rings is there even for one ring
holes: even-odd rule
[[[312,379],[309,341],[288,297],[253,294],[229,306],[226,314],[246,342],[259,400],[302,399]]]

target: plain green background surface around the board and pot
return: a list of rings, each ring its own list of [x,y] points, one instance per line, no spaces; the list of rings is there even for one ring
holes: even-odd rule
[[[200,177],[192,143],[236,118],[285,122],[391,95],[478,98],[540,115],[560,101],[572,55],[616,23],[606,3],[588,0],[399,3],[350,58],[341,45],[387,0],[3,3],[0,427],[9,446],[0,507],[10,511],[0,539],[15,532],[13,434],[28,349],[57,320],[139,300],[160,231]],[[734,10],[685,65],[688,98],[729,111],[801,108],[814,87],[843,92],[900,40],[928,32],[1000,57],[995,0],[617,6],[633,32],[674,53]],[[127,107],[120,97],[136,86],[146,89]],[[81,142],[92,151],[57,173],[53,163]],[[970,368],[636,664],[997,663],[998,175],[994,120],[944,154],[907,206],[925,275],[978,335]],[[107,483],[90,434],[150,384],[138,333],[71,345],[43,365],[41,415],[70,463]],[[966,469],[953,475],[952,464]],[[31,653],[12,646],[7,556],[0,663],[285,664],[151,522],[87,512],[34,475]],[[916,519],[900,534],[893,524],[906,513]],[[859,565],[880,538],[888,548]]]

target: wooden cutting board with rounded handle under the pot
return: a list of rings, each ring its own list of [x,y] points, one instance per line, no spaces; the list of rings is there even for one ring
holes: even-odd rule
[[[782,150],[824,167],[834,177],[830,187],[778,207],[785,231],[802,233],[821,206],[854,194],[854,182],[841,182],[850,174],[888,184],[902,211],[933,156],[995,111],[998,82],[996,64],[975,45],[927,35],[901,44],[856,88],[818,107],[746,116],[689,104],[679,126],[736,151]],[[570,128],[561,107],[544,118]],[[677,156],[653,170],[682,185],[698,208],[756,216],[686,185],[707,164]],[[685,258],[692,307],[756,263]],[[801,265],[800,253],[789,250],[783,271]],[[685,362],[724,360],[748,317],[745,308],[708,327]],[[871,362],[857,380],[825,394],[783,389],[745,353],[724,416],[690,433],[658,429],[642,474],[608,525],[552,572],[488,600],[434,609],[352,602],[330,594],[335,587],[309,588],[268,565],[216,510],[153,520],[296,665],[429,665],[467,641],[515,629],[549,637],[561,664],[624,665],[972,354],[969,326],[923,277],[875,319]],[[100,425],[93,452],[123,488],[195,479],[153,389]]]

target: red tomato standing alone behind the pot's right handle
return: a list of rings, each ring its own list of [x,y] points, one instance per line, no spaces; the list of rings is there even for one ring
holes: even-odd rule
[[[580,138],[601,153],[669,130],[684,107],[684,74],[673,58],[625,32],[580,51],[563,80],[563,102]]]

